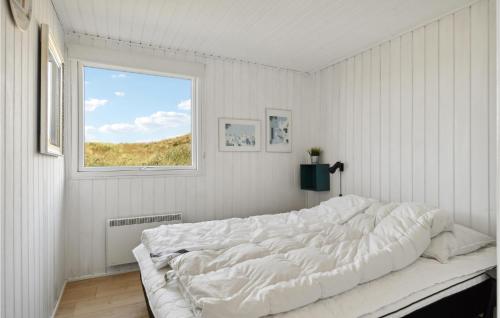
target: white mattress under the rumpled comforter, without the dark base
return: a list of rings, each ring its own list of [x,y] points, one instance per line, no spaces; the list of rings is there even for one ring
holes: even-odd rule
[[[166,281],[166,269],[153,265],[147,249],[133,251],[155,318],[191,318],[191,307],[179,293],[175,280]],[[280,318],[305,317],[402,317],[441,298],[460,292],[487,279],[485,271],[496,266],[496,248],[487,247],[457,256],[447,264],[419,258],[412,265],[357,286],[340,295],[322,299]]]

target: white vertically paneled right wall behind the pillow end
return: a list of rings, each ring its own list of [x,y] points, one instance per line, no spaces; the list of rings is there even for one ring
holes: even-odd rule
[[[495,234],[495,28],[481,0],[314,75],[327,132],[314,140],[346,163],[344,193],[426,202]]]

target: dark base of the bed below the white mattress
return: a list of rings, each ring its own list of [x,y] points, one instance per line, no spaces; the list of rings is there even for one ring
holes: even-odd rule
[[[493,271],[493,272],[492,272]],[[490,275],[490,273],[492,273]],[[482,275],[482,274],[481,274]],[[480,276],[480,275],[478,275]],[[468,280],[474,279],[478,276],[474,276]],[[461,292],[455,293],[448,297],[442,298],[436,302],[433,302],[425,307],[417,309],[412,313],[406,315],[406,318],[494,318],[494,309],[496,306],[496,268],[488,272],[489,278],[482,283],[469,287]],[[466,280],[466,281],[468,281]],[[460,282],[458,284],[452,285],[446,289],[443,289],[437,293],[444,290],[453,288],[456,285],[464,283]],[[142,284],[142,276],[141,276]],[[148,313],[150,318],[155,318],[153,312],[151,311],[151,306],[149,305],[149,299],[146,295],[146,290],[144,284],[142,284],[142,291],[144,292],[144,299],[146,300],[146,305],[148,307]],[[435,293],[435,294],[437,294]],[[429,295],[418,302],[432,297]],[[408,308],[415,304],[409,304],[403,308],[396,311],[390,312],[382,317],[387,317],[389,315],[395,314],[405,308]],[[381,318],[382,318],[381,317]],[[160,317],[157,317],[160,318]]]

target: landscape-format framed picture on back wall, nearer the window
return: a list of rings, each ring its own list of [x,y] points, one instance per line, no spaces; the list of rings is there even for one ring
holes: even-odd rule
[[[220,151],[260,151],[260,121],[219,118]]]

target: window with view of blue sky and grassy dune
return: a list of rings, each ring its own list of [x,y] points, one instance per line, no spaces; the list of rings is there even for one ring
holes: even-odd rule
[[[80,171],[196,169],[196,79],[81,65]]]

